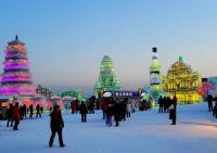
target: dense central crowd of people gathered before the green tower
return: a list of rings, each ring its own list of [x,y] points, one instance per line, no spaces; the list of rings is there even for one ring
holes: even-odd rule
[[[98,102],[100,101],[100,105]],[[131,113],[136,111],[136,101],[128,99],[115,100],[113,98],[102,98],[100,100],[81,101],[73,100],[71,102],[72,114],[80,113],[81,123],[87,123],[87,114],[93,114],[94,110],[102,110],[103,119],[105,119],[106,126],[112,126],[112,120],[116,122],[116,126],[120,120],[125,120],[126,117],[130,117]]]

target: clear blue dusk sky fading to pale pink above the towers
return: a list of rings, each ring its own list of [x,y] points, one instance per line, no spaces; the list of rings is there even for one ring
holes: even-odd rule
[[[91,93],[110,55],[123,89],[138,89],[149,85],[153,47],[163,75],[182,55],[203,77],[217,76],[216,0],[1,0],[1,62],[15,35],[44,87]]]

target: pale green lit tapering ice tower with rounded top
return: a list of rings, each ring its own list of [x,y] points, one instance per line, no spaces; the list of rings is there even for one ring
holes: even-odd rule
[[[110,56],[105,55],[100,64],[99,79],[94,86],[94,93],[98,94],[100,89],[104,91],[118,91],[122,89],[120,82],[115,76],[113,61]]]

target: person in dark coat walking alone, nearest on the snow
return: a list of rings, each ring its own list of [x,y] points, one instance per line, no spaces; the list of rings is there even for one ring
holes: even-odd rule
[[[50,114],[50,116],[51,116],[50,127],[51,127],[52,133],[51,133],[51,137],[50,137],[49,146],[52,148],[53,139],[55,137],[55,133],[58,132],[60,146],[64,148],[65,144],[63,143],[63,138],[62,138],[62,130],[63,130],[63,127],[64,127],[64,122],[63,122],[61,109],[60,109],[59,105],[54,106],[54,110]]]

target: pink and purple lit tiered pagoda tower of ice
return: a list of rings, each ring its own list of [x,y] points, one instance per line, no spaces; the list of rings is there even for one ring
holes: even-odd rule
[[[8,42],[4,59],[0,95],[34,95],[35,86],[29,73],[26,47],[17,36],[15,40]]]

